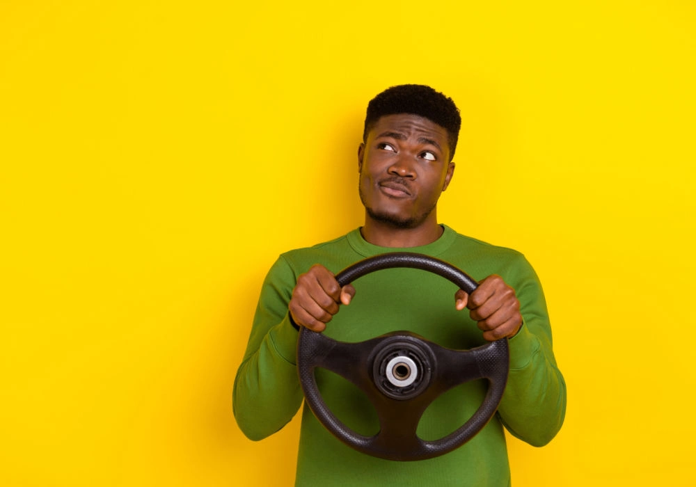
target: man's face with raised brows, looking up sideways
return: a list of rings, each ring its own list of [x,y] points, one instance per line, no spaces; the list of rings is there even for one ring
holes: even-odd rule
[[[448,132],[418,115],[385,115],[358,149],[358,170],[369,218],[418,227],[435,217],[438,198],[454,172]]]

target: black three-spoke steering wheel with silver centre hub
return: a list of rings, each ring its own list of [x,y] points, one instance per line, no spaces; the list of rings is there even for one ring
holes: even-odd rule
[[[409,267],[448,279],[465,292],[475,280],[456,267],[416,253],[386,253],[349,266],[335,277],[343,287],[367,273]],[[314,369],[322,367],[360,388],[377,410],[379,432],[356,433],[327,408],[317,387]],[[452,350],[408,331],[397,331],[365,342],[347,343],[301,327],[297,369],[305,400],[333,436],[359,452],[387,460],[433,458],[464,445],[491,420],[505,391],[509,369],[507,338],[475,349]],[[434,441],[416,435],[420,417],[440,394],[456,385],[486,378],[489,388],[481,406],[448,436]]]

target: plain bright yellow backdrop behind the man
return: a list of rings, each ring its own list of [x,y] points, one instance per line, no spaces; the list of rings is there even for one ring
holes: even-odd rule
[[[0,484],[290,484],[296,422],[231,413],[260,284],[361,224],[416,82],[464,119],[441,221],[548,298],[566,423],[514,485],[694,485],[695,65],[686,0],[0,1]]]

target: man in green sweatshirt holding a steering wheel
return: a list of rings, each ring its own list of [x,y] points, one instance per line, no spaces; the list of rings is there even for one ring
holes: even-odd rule
[[[493,420],[459,449],[425,461],[373,458],[343,445],[303,409],[296,484],[301,486],[508,486],[503,426],[541,446],[563,422],[566,392],[551,348],[539,280],[514,250],[485,244],[438,224],[438,198],[454,175],[461,118],[432,88],[394,86],[367,106],[358,148],[358,188],[365,225],[344,237],[280,256],[264,281],[251,336],[237,372],[234,410],[248,438],[282,428],[299,410],[296,372],[300,326],[335,340],[361,342],[410,330],[452,349],[509,337],[510,372]],[[416,269],[387,269],[340,288],[334,274],[358,260],[407,250],[450,262],[479,280],[468,296]],[[454,299],[452,299],[454,297]],[[463,312],[468,308],[469,312]],[[339,314],[339,310],[341,310]],[[327,406],[358,433],[379,422],[364,395],[317,369]],[[487,384],[466,383],[429,406],[418,436],[436,440],[480,406]]]

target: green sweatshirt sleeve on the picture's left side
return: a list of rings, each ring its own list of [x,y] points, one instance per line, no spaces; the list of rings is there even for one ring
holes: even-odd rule
[[[297,330],[290,323],[296,276],[283,256],[264,280],[242,365],[232,391],[232,410],[242,432],[262,440],[283,428],[302,404],[296,371]]]

